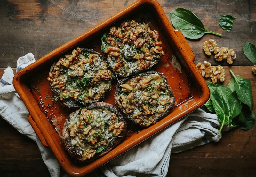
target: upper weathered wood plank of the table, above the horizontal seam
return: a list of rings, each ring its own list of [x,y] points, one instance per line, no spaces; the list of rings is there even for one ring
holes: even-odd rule
[[[16,67],[19,56],[32,52],[36,59],[46,55],[77,35],[99,24],[134,0],[2,0],[0,1],[0,67]],[[237,59],[233,65],[251,65],[243,54],[245,41],[256,41],[256,6],[249,0],[205,0],[205,1],[159,1],[166,15],[175,8],[183,7],[193,11],[204,23],[206,29],[221,33],[222,38],[206,34],[200,40],[188,43],[196,53],[195,62],[209,60],[202,49],[203,42],[210,38],[220,47],[233,48]],[[233,15],[236,20],[230,32],[218,24],[221,15]],[[226,61],[220,62],[227,65]]]

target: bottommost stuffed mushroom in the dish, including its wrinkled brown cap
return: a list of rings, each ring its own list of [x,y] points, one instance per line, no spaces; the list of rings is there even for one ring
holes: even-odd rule
[[[113,149],[126,134],[126,121],[116,107],[92,103],[69,115],[62,140],[70,155],[89,162]]]

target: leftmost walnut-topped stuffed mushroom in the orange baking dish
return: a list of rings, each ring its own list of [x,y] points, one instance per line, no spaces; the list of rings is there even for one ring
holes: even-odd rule
[[[113,77],[99,53],[76,48],[52,65],[47,79],[62,105],[81,107],[102,99]]]

